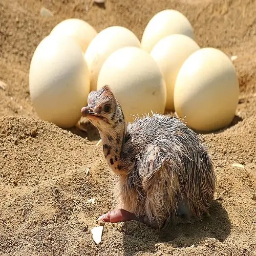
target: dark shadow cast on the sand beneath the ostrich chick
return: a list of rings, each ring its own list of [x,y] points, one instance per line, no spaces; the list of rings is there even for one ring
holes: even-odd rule
[[[154,252],[156,243],[166,243],[172,247],[197,246],[206,238],[215,238],[223,242],[230,234],[231,224],[227,211],[221,203],[214,201],[210,209],[210,216],[193,224],[169,224],[161,230],[148,228],[144,224],[138,224],[140,232],[131,232],[134,223],[124,223],[124,230],[130,230],[123,234],[123,246],[125,256],[135,255],[138,250]],[[145,229],[145,230],[144,230]],[[138,235],[141,234],[141,235]],[[147,236],[143,236],[146,233]],[[148,235],[148,233],[150,233]],[[134,245],[134,249],[131,248]],[[137,248],[136,248],[137,247]]]

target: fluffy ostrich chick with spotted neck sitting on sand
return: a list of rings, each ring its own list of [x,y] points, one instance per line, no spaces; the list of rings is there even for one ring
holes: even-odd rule
[[[206,147],[181,120],[154,114],[127,123],[109,86],[81,109],[100,133],[109,166],[119,176],[118,208],[98,220],[138,220],[162,227],[208,213],[216,176]]]

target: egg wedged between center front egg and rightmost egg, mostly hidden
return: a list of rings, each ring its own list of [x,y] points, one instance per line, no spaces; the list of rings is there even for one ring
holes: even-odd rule
[[[183,62],[199,49],[198,44],[190,37],[174,34],[161,39],[151,51],[151,56],[158,63],[164,76],[167,110],[174,111],[174,86]]]

